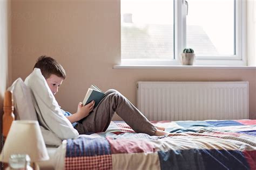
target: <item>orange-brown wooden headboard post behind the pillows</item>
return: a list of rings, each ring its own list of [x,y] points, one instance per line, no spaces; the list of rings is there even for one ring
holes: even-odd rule
[[[14,121],[14,100],[12,98],[12,91],[5,91],[4,94],[4,114],[3,114],[3,136],[4,140],[11,128],[11,123]]]

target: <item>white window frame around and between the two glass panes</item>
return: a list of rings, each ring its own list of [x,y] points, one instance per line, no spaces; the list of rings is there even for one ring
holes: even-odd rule
[[[197,55],[194,65],[247,66],[246,59],[246,1],[235,2],[235,55]],[[122,59],[121,66],[176,66],[179,55],[186,47],[186,0],[174,0],[174,58],[173,59]],[[180,9],[180,10],[179,10]],[[188,11],[189,12],[189,11]]]

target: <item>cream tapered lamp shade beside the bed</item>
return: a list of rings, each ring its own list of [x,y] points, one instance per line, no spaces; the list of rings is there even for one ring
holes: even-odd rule
[[[32,162],[49,159],[37,121],[12,122],[0,160],[8,162],[11,154],[28,154]]]

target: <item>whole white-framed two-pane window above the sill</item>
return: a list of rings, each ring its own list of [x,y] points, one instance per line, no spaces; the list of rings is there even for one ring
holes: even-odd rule
[[[246,65],[242,0],[121,0],[122,65]]]

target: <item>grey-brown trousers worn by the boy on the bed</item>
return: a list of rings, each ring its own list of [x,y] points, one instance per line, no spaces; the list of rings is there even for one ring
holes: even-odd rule
[[[135,132],[154,135],[156,127],[117,90],[107,90],[102,101],[90,115],[83,118],[75,126],[79,134],[88,132],[104,132],[111,119],[117,113]]]

